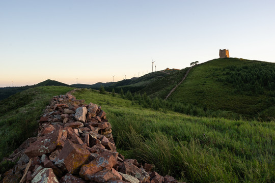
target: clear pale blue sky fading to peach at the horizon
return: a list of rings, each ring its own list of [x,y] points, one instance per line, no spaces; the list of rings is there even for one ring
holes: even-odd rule
[[[275,62],[274,8],[273,0],[0,0],[0,87],[116,82],[152,72],[152,59],[156,71],[183,69],[219,49]]]

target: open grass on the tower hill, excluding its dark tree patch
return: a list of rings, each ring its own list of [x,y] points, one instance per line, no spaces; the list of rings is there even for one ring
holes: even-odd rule
[[[255,114],[270,107],[265,104],[266,100],[268,100],[266,94],[245,95],[236,93],[232,84],[225,85],[223,82],[217,81],[226,72],[223,68],[252,65],[255,63],[259,62],[255,60],[227,58],[214,59],[200,64],[190,71],[186,80],[175,90],[168,100],[184,104],[190,103],[202,107],[206,106],[214,110],[229,110],[256,117]],[[271,108],[274,109],[274,106],[271,106]],[[270,117],[274,117],[275,112],[272,112],[270,109],[267,109],[267,113],[269,113]]]

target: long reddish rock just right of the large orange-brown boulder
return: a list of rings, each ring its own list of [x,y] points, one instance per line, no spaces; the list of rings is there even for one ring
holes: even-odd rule
[[[112,170],[113,166],[117,163],[117,159],[112,153],[104,151],[89,164],[83,165],[80,169],[79,175],[88,180],[89,178],[87,178],[87,175],[95,174],[103,169]]]

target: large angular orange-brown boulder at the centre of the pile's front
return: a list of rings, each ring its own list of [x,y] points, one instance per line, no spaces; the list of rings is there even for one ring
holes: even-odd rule
[[[67,170],[69,173],[76,174],[80,167],[87,162],[89,156],[89,150],[67,139],[54,165]]]

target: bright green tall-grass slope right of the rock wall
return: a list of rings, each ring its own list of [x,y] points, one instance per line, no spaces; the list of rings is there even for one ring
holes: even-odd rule
[[[85,89],[74,95],[102,106],[123,155],[152,163],[162,174],[186,182],[275,181],[274,121],[154,111]]]

